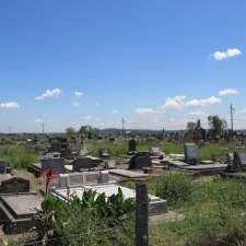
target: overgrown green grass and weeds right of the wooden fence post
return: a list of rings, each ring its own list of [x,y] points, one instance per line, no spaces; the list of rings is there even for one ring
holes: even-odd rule
[[[208,181],[192,181],[190,186],[189,177],[185,178],[181,174],[178,176],[179,174],[169,173],[160,177],[163,180],[157,189],[155,179],[149,183],[149,190],[153,195],[157,195],[161,189],[168,190],[169,192],[163,192],[163,197],[172,201],[169,209],[186,215],[184,221],[152,226],[151,245],[245,245],[246,184],[215,178]],[[174,179],[178,180],[177,184],[173,181]],[[183,194],[181,199],[174,194]]]

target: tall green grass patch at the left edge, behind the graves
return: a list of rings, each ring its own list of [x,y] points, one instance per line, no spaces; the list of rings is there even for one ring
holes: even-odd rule
[[[13,168],[26,168],[31,163],[37,162],[36,154],[28,152],[24,147],[0,147],[0,159],[7,161]]]

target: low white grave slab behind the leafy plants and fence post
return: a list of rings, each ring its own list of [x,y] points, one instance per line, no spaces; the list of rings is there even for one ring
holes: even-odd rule
[[[71,187],[70,194],[75,195],[80,199],[82,199],[84,191],[93,190],[96,192],[96,196],[101,194],[105,194],[106,198],[109,198],[113,195],[118,194],[118,189],[121,189],[125,199],[136,199],[136,191],[133,189],[129,189],[122,186],[118,186],[116,184],[107,184],[107,185],[85,185]],[[51,191],[51,196],[57,197],[62,201],[69,200],[69,192],[67,189],[55,189]],[[150,215],[161,214],[167,212],[167,201],[163,200],[159,197],[154,197],[149,195],[149,213]]]

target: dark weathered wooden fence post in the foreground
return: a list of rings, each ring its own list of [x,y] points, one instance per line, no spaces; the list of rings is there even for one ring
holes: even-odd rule
[[[145,184],[136,185],[136,246],[149,246],[149,198]]]

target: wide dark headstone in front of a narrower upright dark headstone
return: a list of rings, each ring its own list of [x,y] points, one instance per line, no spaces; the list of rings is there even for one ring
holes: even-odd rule
[[[149,152],[139,152],[131,157],[129,169],[141,169],[142,167],[151,167],[151,156]]]

